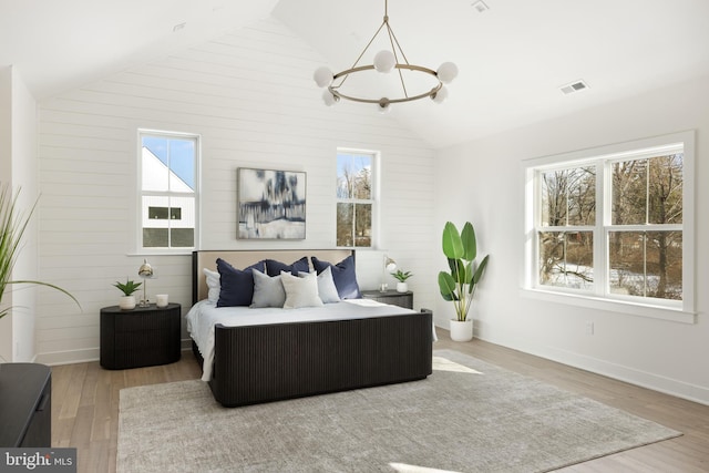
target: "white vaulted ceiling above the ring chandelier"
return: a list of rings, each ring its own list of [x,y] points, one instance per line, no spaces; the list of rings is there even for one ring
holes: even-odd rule
[[[475,1],[389,1],[410,63],[460,69],[445,103],[392,109],[433,146],[709,75],[709,0],[484,0],[482,13]],[[383,0],[0,0],[0,64],[41,100],[270,13],[339,71],[383,10]],[[588,90],[559,91],[579,79]],[[314,106],[325,106],[319,91]]]

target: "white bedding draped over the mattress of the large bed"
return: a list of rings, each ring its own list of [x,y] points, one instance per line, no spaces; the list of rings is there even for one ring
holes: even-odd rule
[[[204,299],[195,304],[185,317],[187,319],[187,331],[204,358],[202,380],[209,381],[214,361],[214,327],[217,323],[226,327],[245,327],[285,322],[366,319],[401,313],[418,312],[371,299],[348,299],[337,304],[327,304],[322,307],[301,309],[276,307],[259,309],[249,307],[217,308],[214,301]]]

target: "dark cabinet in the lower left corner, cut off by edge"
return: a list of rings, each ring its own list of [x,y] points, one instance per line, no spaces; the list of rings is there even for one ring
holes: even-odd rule
[[[52,372],[39,363],[0,364],[0,446],[50,448]]]

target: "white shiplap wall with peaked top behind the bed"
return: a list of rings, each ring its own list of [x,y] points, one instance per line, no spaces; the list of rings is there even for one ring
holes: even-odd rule
[[[202,135],[205,249],[335,246],[336,148],[380,151],[379,247],[415,274],[415,306],[432,307],[433,151],[371,106],[322,105],[311,80],[322,63],[267,19],[40,104],[41,278],[72,291],[82,310],[42,290],[38,361],[97,359],[99,310],[117,304],[112,284],[137,279],[143,257],[157,273],[148,297],[167,292],[183,312],[189,306],[187,255],[134,254],[138,127]],[[307,172],[306,240],[236,239],[240,166]],[[378,281],[381,254],[361,253],[359,271]]]

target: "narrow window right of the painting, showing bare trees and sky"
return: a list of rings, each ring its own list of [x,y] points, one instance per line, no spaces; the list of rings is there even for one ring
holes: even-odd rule
[[[338,150],[337,246],[372,247],[377,153]]]

